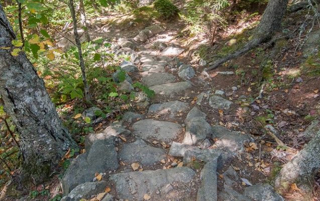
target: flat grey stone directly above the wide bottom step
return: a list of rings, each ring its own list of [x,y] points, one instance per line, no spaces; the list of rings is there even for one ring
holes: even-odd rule
[[[124,162],[139,162],[142,165],[153,165],[166,158],[165,150],[149,146],[143,140],[126,144],[120,151],[118,158]]]

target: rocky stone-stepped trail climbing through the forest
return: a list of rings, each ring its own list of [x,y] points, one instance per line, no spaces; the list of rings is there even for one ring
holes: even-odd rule
[[[236,95],[237,86],[212,87],[206,75],[182,63],[185,49],[161,41],[164,31],[153,25],[113,44],[115,55],[130,56],[121,64],[127,74],[120,90],[133,90],[139,80],[155,96],[136,93],[136,113],[86,138],[86,152],[62,178],[62,200],[284,200],[266,177],[243,169],[268,166],[250,153],[259,149],[255,139],[212,121],[211,113],[234,113],[234,99],[246,97]],[[220,79],[234,75],[216,73]]]

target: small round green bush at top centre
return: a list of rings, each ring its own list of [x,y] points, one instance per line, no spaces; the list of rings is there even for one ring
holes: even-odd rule
[[[153,6],[165,19],[170,19],[179,12],[179,9],[169,0],[157,0]]]

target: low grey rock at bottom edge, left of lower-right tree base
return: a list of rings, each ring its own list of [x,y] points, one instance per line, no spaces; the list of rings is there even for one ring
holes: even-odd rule
[[[284,201],[269,184],[256,184],[245,189],[244,195],[256,201]]]

